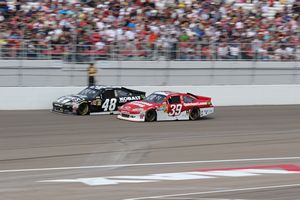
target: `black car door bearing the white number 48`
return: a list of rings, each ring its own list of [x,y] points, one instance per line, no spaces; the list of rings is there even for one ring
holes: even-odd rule
[[[117,110],[118,100],[115,95],[114,89],[107,89],[102,94],[101,109],[103,112],[112,112]]]

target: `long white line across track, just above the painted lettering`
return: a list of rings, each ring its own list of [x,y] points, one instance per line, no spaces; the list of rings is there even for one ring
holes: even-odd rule
[[[230,160],[204,160],[204,161],[182,161],[182,162],[163,162],[163,163],[95,165],[95,166],[55,167],[55,168],[36,168],[36,169],[8,169],[8,170],[0,170],[0,173],[55,171],[55,170],[76,170],[76,169],[97,169],[97,168],[116,168],[116,167],[159,166],[159,165],[180,165],[180,164],[200,164],[200,163],[272,161],[272,160],[300,160],[300,157],[247,158],[247,159],[230,159]]]

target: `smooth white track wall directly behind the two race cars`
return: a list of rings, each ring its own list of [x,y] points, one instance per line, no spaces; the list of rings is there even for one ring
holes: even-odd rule
[[[213,98],[215,106],[300,104],[300,85],[228,86],[128,86],[148,94],[163,91],[190,92]],[[83,87],[0,87],[0,110],[51,109],[60,96],[76,94]]]

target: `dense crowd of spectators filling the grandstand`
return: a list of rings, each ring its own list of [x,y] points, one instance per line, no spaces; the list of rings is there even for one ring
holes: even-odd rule
[[[253,9],[236,6],[245,2]],[[25,45],[32,55],[113,49],[140,57],[168,52],[170,59],[294,60],[300,1],[280,2],[283,9],[266,17],[272,0],[0,0],[0,47]]]

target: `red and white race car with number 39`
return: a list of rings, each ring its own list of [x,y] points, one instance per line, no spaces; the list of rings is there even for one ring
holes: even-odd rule
[[[159,91],[142,101],[124,104],[119,112],[119,119],[129,121],[197,120],[212,114],[214,106],[210,97]]]

